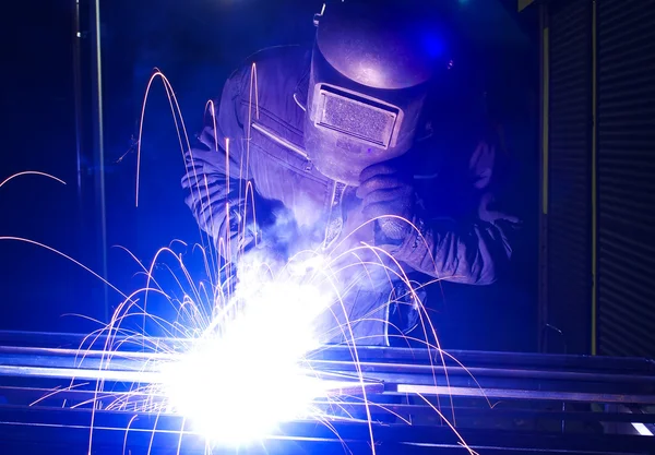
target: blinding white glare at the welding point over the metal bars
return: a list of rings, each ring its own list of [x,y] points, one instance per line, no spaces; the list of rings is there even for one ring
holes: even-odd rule
[[[261,271],[243,272],[238,314],[162,371],[175,411],[218,444],[247,444],[279,422],[308,418],[312,400],[327,393],[299,361],[319,346],[313,321],[330,299],[297,279],[262,282]]]

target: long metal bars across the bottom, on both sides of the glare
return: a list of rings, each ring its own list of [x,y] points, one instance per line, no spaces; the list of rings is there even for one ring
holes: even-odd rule
[[[0,333],[0,444],[7,453],[87,454],[93,434],[94,454],[205,453],[184,417],[157,407],[163,397],[153,393],[159,361],[189,342],[157,343],[167,349]],[[655,453],[648,359],[332,346],[305,363],[336,399],[314,402],[320,421],[281,424],[239,453],[370,454],[371,431],[376,454],[467,453],[462,440],[480,455]],[[111,406],[124,396],[151,408]]]

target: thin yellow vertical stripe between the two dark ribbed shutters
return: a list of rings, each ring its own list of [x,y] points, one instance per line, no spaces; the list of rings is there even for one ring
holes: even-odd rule
[[[598,226],[596,225],[596,217],[598,213],[598,201],[596,199],[596,68],[597,68],[597,47],[596,41],[596,1],[592,2],[592,355],[596,355],[597,344],[597,276],[596,276],[596,249],[598,235]]]

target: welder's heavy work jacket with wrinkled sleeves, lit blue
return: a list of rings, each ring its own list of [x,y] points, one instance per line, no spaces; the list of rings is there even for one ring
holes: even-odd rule
[[[262,242],[288,250],[376,246],[356,189],[321,175],[303,149],[310,53],[285,46],[252,56],[210,104],[198,144],[186,154],[186,202],[215,241],[229,238],[233,254],[252,247],[258,232]],[[437,118],[431,137],[410,154],[415,228],[400,244],[380,247],[402,273],[491,284],[510,260],[519,223],[495,206],[498,149],[484,128],[462,128],[448,113]],[[429,175],[427,161],[437,163]],[[368,321],[358,325],[360,343],[389,343],[382,322],[389,307],[380,302],[392,288],[353,291],[348,318]]]

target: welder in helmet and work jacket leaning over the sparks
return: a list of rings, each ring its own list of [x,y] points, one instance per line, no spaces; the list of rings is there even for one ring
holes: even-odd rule
[[[519,223],[497,205],[492,135],[460,116],[456,34],[428,10],[327,3],[313,46],[262,50],[233,73],[186,155],[187,204],[233,260],[343,244],[393,258],[402,279],[355,286],[343,307],[360,344],[389,345],[385,321],[417,325],[422,294],[403,277],[493,283]]]

